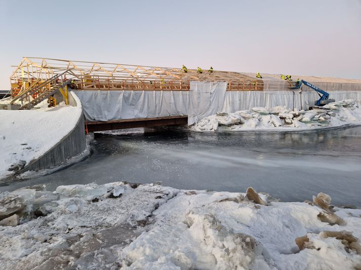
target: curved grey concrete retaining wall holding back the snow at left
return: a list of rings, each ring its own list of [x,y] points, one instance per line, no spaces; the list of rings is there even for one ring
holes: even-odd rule
[[[81,104],[77,104],[76,100],[72,96],[74,93],[70,93],[69,104],[72,106],[81,106]],[[59,141],[43,156],[37,158],[28,166],[24,167],[20,173],[24,173],[26,171],[39,171],[59,166],[67,159],[84,152],[86,147],[87,144],[85,138],[84,116],[82,114],[71,132],[63,137],[61,141]]]

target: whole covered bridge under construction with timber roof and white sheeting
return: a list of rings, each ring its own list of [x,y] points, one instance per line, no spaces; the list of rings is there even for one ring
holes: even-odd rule
[[[71,89],[82,101],[89,131],[191,125],[217,112],[253,106],[313,102],[305,90],[295,98],[294,81],[275,75],[24,57],[10,76],[8,109],[29,110],[50,96],[68,101]],[[296,77],[296,76],[295,76]],[[337,99],[359,99],[361,80],[305,77]],[[317,81],[318,80],[318,81]],[[306,95],[307,94],[307,95]],[[309,101],[312,100],[312,101]],[[291,105],[292,107],[292,105]]]

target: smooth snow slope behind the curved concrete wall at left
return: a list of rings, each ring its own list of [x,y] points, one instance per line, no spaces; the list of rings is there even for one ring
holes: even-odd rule
[[[74,128],[81,114],[81,105],[65,104],[37,110],[0,110],[0,179],[50,150]]]

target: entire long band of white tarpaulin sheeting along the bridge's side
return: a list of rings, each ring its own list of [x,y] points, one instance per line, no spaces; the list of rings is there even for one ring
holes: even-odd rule
[[[188,125],[217,112],[233,113],[262,106],[286,106],[301,109],[301,96],[295,90],[226,91],[227,82],[190,82],[189,91],[84,90],[74,91],[82,100],[88,121],[110,121],[156,117],[188,116]],[[302,109],[319,98],[303,88]],[[361,91],[328,91],[337,100],[361,99]]]

